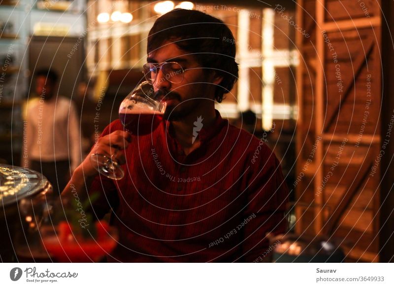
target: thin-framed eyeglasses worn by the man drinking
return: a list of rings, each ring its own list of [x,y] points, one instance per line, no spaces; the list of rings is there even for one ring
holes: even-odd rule
[[[160,64],[147,63],[142,68],[145,79],[149,83],[155,82],[159,70],[162,71],[165,80],[174,84],[179,84],[183,81],[184,73],[186,71],[179,63],[176,62],[164,62]]]

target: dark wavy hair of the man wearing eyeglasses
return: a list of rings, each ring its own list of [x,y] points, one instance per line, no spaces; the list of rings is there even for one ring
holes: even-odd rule
[[[214,70],[223,80],[215,91],[220,103],[238,78],[235,62],[235,40],[226,24],[197,10],[174,9],[159,17],[148,35],[147,53],[160,48],[166,41],[196,56],[198,63]]]

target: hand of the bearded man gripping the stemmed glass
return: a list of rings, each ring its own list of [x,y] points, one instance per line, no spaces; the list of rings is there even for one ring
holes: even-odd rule
[[[95,153],[103,154],[119,164],[126,162],[124,149],[126,149],[131,142],[131,134],[124,131],[115,131],[109,135],[99,138],[97,143],[93,146],[88,156],[84,159],[82,164],[77,168],[82,168],[85,176],[95,176],[99,172],[94,168],[91,162],[91,155]]]

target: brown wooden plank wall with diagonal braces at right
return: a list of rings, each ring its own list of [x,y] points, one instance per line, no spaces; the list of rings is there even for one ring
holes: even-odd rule
[[[347,261],[379,261],[380,0],[298,0],[298,232],[339,239]],[[386,144],[387,145],[387,144]],[[298,180],[297,180],[298,178]]]

